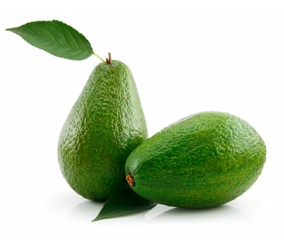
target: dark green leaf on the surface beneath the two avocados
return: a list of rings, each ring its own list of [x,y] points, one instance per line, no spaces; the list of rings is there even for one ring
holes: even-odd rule
[[[109,197],[99,215],[92,221],[138,213],[155,205],[155,202],[140,197],[127,186],[125,189],[114,193],[112,197]]]

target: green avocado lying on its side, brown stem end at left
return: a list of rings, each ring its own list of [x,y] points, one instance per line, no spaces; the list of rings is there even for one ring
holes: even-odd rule
[[[131,188],[160,204],[209,208],[234,200],[257,180],[266,146],[244,120],[200,112],[158,132],[127,158]]]

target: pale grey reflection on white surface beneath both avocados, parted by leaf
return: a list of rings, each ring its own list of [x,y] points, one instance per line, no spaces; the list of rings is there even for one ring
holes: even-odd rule
[[[70,213],[67,215],[67,219],[74,223],[90,223],[92,219],[99,214],[104,202],[94,202],[86,200],[77,204]],[[176,208],[172,206],[166,206],[157,204],[154,208],[141,213],[127,215],[124,217],[117,217],[114,219],[107,219],[103,221],[135,221],[139,222],[161,222],[161,221],[192,221],[196,224],[202,221],[204,222],[231,222],[231,221],[248,221],[248,217],[240,209],[224,204],[215,208],[207,209],[188,209],[188,208]]]

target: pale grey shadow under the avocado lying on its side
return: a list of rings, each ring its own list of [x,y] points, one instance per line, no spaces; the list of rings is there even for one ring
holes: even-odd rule
[[[227,221],[229,220],[246,220],[247,217],[239,209],[229,205],[216,206],[214,208],[190,209],[190,208],[171,208],[151,221],[159,221],[164,219],[183,219],[187,221],[209,220],[209,221]]]

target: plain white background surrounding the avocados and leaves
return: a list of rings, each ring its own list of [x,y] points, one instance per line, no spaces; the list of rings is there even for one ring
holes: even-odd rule
[[[0,239],[283,239],[284,10],[281,1],[1,1]],[[197,2],[197,1],[196,1]],[[158,205],[91,222],[101,203],[68,187],[57,139],[92,69],[5,32],[57,19],[133,72],[149,135],[205,110],[242,117],[266,142],[263,173],[209,210]]]

